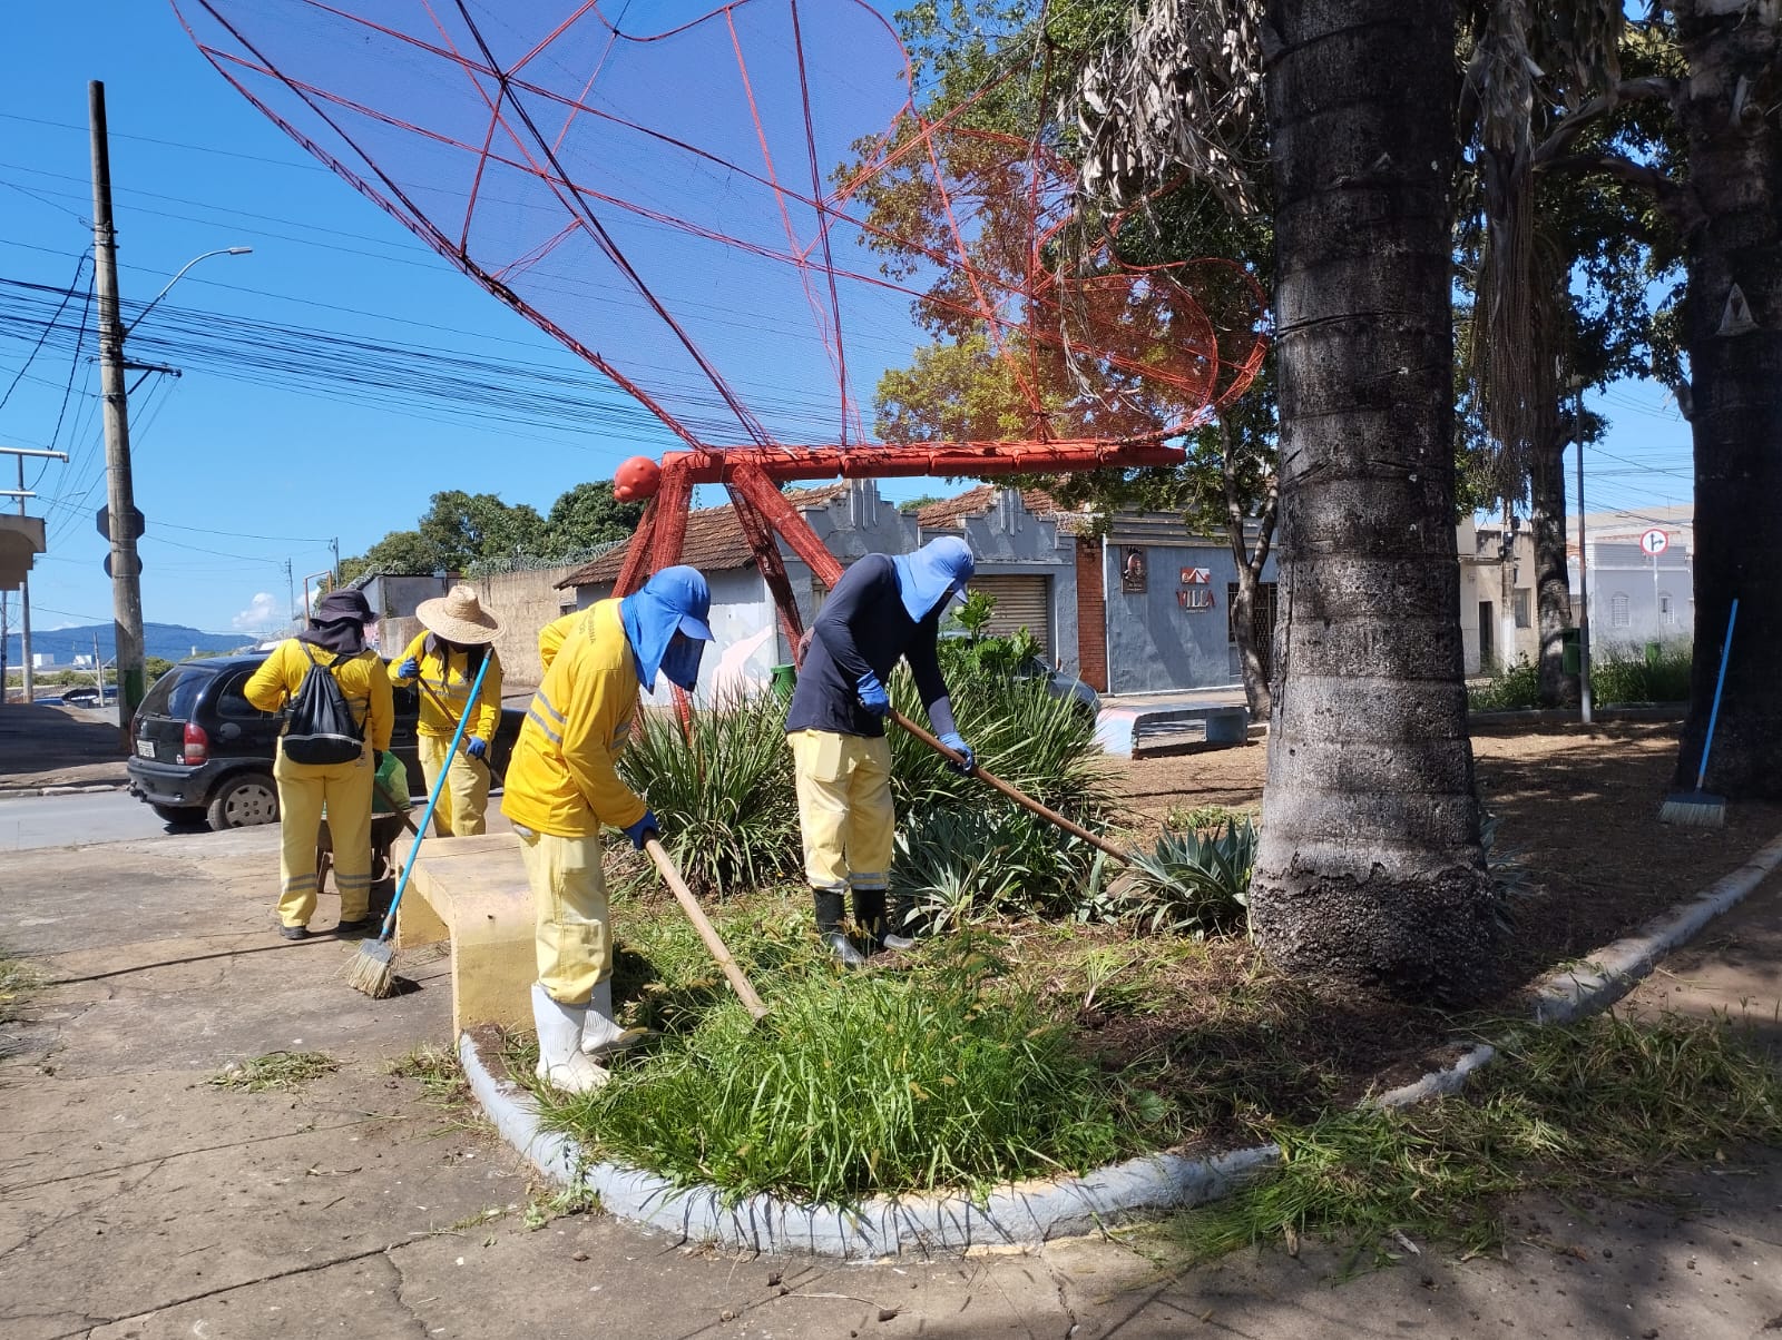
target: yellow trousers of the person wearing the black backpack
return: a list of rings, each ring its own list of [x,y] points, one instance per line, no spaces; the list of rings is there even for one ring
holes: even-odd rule
[[[340,919],[358,921],[371,907],[371,747],[351,763],[292,763],[280,743],[278,779],[278,919],[307,927],[315,914],[315,839],[328,807]]]

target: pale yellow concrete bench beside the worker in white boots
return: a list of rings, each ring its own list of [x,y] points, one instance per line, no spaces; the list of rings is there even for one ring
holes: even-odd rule
[[[408,862],[412,845],[405,834],[397,866]],[[533,1026],[531,991],[538,980],[533,893],[520,839],[511,832],[428,838],[421,845],[396,911],[396,948],[440,941],[451,943],[453,1037],[479,1023]]]

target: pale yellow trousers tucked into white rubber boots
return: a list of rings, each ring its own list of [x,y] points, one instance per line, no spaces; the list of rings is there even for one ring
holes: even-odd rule
[[[533,886],[538,982],[561,1005],[586,1005],[593,987],[613,971],[601,836],[554,838],[519,823],[513,832],[526,882]]]

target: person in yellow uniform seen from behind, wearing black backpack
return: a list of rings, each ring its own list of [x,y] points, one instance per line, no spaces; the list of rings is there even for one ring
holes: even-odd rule
[[[242,690],[260,711],[282,711],[298,697],[312,665],[333,675],[358,731],[358,752],[340,763],[298,763],[280,736],[273,777],[278,780],[278,934],[305,939],[315,914],[315,839],[323,807],[333,839],[335,884],[340,886],[337,932],[369,930],[371,916],[371,779],[390,747],[396,713],[383,659],[365,645],[372,622],[364,592],[328,592],[310,625],[285,638],[248,677]],[[285,734],[290,727],[287,723]],[[347,747],[349,748],[349,747]]]

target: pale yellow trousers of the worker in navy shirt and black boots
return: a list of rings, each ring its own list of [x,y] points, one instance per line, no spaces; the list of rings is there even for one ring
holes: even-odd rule
[[[891,873],[891,741],[793,731],[798,832],[813,889],[882,889]]]

